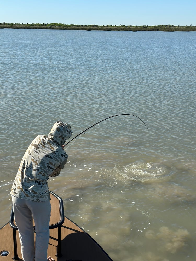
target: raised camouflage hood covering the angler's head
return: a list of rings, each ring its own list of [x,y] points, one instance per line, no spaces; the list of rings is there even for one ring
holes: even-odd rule
[[[57,121],[48,134],[48,138],[62,146],[65,141],[71,137],[72,133],[73,132],[69,124],[62,121]]]

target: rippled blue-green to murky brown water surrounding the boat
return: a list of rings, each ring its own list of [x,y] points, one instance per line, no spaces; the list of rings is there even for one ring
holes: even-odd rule
[[[56,120],[50,190],[114,261],[195,260],[195,32],[0,30],[1,221],[20,160]]]

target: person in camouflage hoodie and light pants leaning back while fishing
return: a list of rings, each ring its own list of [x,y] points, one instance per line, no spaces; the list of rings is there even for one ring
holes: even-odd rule
[[[50,176],[58,176],[64,168],[68,155],[63,148],[71,135],[70,125],[59,120],[48,136],[38,135],[22,157],[11,197],[24,261],[54,260],[47,258],[51,211],[47,181]]]

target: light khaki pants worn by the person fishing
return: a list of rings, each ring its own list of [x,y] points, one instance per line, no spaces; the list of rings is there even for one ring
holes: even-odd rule
[[[12,203],[23,260],[47,261],[50,238],[50,201],[35,202],[12,196]],[[35,222],[35,243],[32,216]]]

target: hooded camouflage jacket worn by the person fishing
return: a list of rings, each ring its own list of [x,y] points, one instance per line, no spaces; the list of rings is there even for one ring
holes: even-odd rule
[[[67,162],[62,145],[72,135],[69,124],[57,121],[48,136],[38,135],[26,150],[11,188],[11,195],[31,201],[48,201],[47,180],[56,177]]]

